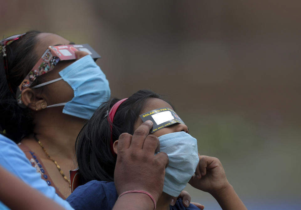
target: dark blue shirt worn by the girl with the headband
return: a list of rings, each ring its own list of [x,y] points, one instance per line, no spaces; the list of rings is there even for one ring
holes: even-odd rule
[[[66,201],[75,210],[111,210],[118,198],[114,182],[90,181],[86,184],[77,187],[74,192],[67,197]],[[126,209],[126,208],[124,208]],[[193,210],[198,207],[190,204],[189,207],[184,207],[182,199],[178,199],[174,206],[170,206],[170,210]]]

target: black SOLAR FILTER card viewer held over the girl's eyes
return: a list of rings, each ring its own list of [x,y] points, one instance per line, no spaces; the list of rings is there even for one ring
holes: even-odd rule
[[[167,107],[151,110],[139,116],[143,122],[145,122],[146,120],[153,121],[154,125],[150,130],[150,133],[158,131],[167,126],[174,125],[176,123],[185,125],[185,123],[183,122],[183,120],[181,120],[177,113]]]

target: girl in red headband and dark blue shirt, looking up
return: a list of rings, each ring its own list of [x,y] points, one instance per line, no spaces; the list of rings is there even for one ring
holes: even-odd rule
[[[160,95],[147,90],[140,90],[128,99],[114,98],[103,103],[82,128],[76,154],[85,184],[67,198],[73,208],[112,209],[118,199],[113,182],[118,138],[122,133],[133,134],[148,116],[154,119],[150,132],[159,137],[160,150],[169,156],[163,192],[157,204],[154,202],[157,210],[198,209],[192,204],[184,207],[181,200],[175,206],[169,205],[172,196],[179,194],[188,181],[193,187],[211,193],[223,209],[246,209],[227,181],[219,160],[198,156],[196,140],[188,134],[187,126],[173,107]],[[142,143],[131,141],[131,144]],[[136,155],[132,153],[131,158]]]

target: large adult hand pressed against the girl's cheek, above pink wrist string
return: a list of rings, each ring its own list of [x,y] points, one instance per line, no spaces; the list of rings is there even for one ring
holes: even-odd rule
[[[119,136],[114,171],[119,195],[129,190],[143,190],[158,201],[162,193],[168,156],[164,152],[154,156],[159,151],[160,143],[156,136],[148,135],[152,126],[153,123],[148,120],[137,128],[133,136],[128,133]]]

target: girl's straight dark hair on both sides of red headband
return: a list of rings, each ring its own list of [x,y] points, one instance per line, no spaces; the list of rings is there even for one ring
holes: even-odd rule
[[[119,106],[112,125],[113,142],[122,133],[134,133],[134,124],[148,98],[162,99],[152,91],[139,90]],[[77,136],[75,149],[82,184],[91,180],[114,181],[116,157],[110,149],[111,131],[107,116],[118,101],[113,98],[100,105]]]

